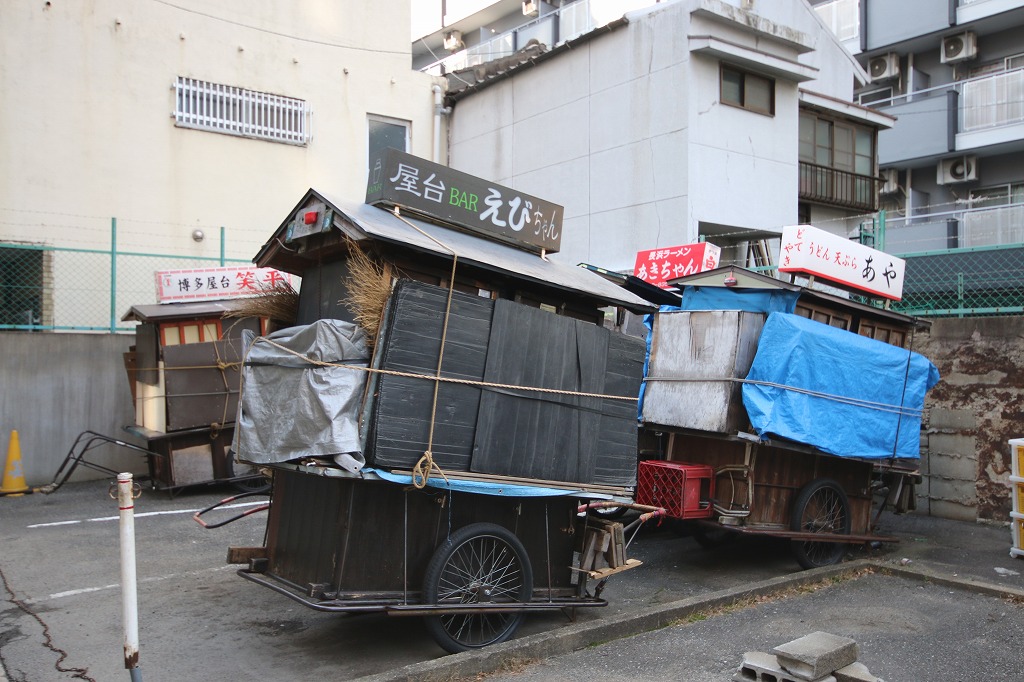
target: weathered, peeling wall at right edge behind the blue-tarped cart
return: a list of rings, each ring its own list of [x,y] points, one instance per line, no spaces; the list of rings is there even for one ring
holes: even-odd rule
[[[935,319],[913,349],[939,368],[925,401],[919,509],[1006,521],[1010,438],[1024,436],[1024,317]]]

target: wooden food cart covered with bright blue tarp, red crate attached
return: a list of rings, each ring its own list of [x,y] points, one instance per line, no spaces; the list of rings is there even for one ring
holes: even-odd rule
[[[938,380],[909,350],[921,323],[738,267],[672,284],[683,300],[654,315],[641,409],[659,454],[640,463],[637,502],[705,545],[787,538],[804,567],[892,540],[878,514],[913,506]]]

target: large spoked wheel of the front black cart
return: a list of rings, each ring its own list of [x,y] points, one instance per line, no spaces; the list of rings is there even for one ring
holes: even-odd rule
[[[473,523],[452,534],[427,564],[423,600],[428,604],[528,602],[534,572],[522,543],[494,523]],[[525,613],[432,615],[427,630],[450,653],[504,642]]]

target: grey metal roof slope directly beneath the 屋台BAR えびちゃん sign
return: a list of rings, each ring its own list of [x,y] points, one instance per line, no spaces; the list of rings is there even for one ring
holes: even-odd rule
[[[610,305],[622,305],[634,311],[655,308],[648,301],[583,267],[547,260],[535,253],[412,217],[399,218],[388,210],[369,204],[334,200],[321,193],[314,194],[330,204],[341,219],[367,237],[440,256],[450,256],[454,252],[460,261],[518,279],[531,280],[544,286],[592,296]]]

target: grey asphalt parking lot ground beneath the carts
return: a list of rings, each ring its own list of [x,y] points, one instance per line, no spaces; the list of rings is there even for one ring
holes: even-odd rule
[[[889,682],[1021,677],[1024,559],[1006,526],[887,515],[881,531],[899,543],[810,571],[778,541],[709,551],[651,526],[630,546],[643,565],[608,582],[606,608],[537,614],[510,642],[445,655],[416,619],[321,613],[236,576],[226,548],[261,544],[265,517],[213,530],[190,519],[230,494],[136,502],[147,682],[729,680],[744,652],[814,631],[855,639]],[[117,514],[104,481],[0,499],[0,680],[129,678]]]

